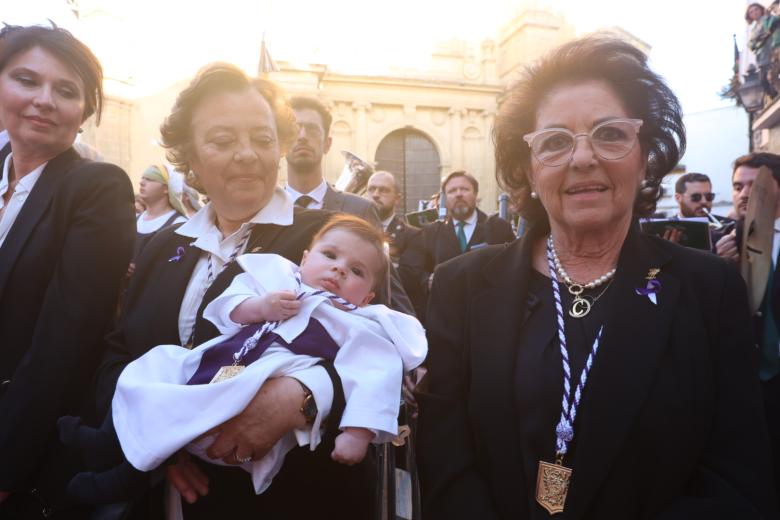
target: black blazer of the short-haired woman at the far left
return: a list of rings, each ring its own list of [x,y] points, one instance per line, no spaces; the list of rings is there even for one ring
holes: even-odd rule
[[[0,490],[34,486],[57,418],[78,413],[134,238],[125,172],[71,148],[0,246]]]

